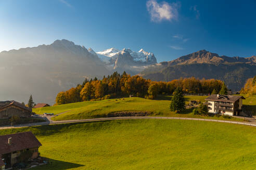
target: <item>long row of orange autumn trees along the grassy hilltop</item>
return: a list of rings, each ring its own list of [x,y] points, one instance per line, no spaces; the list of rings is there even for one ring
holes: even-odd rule
[[[176,88],[185,93],[219,92],[223,82],[215,79],[180,78],[169,82],[151,81],[138,75],[131,76],[125,72],[120,75],[114,72],[102,80],[85,79],[82,84],[67,91],[59,92],[56,104],[67,104],[81,101],[103,100],[110,97],[134,95],[153,99],[158,94],[173,94]]]

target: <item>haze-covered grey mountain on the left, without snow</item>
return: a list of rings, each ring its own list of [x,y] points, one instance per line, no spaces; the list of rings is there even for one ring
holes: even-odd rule
[[[36,103],[54,104],[58,92],[75,87],[85,78],[111,72],[104,63],[67,40],[51,45],[0,53],[0,100],[27,103],[30,94]]]

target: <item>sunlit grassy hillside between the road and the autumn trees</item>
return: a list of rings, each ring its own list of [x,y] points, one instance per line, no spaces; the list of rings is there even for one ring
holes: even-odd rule
[[[204,102],[204,98],[207,96],[185,96],[186,101],[200,100]],[[145,98],[131,97],[103,100],[96,102],[80,102],[66,105],[59,105],[53,107],[45,107],[40,109],[34,109],[37,114],[43,112],[52,112],[59,114],[65,112],[53,120],[72,120],[72,119],[89,119],[100,117],[112,117],[111,114],[122,111],[147,111],[151,112],[150,116],[168,116],[168,117],[200,117],[192,114],[192,109],[187,109],[184,114],[175,114],[170,111],[170,98],[171,96],[160,96],[158,100],[146,100]],[[66,112],[67,111],[67,112]],[[223,117],[206,117],[210,119],[221,119]],[[242,119],[231,118],[228,120],[243,121]]]

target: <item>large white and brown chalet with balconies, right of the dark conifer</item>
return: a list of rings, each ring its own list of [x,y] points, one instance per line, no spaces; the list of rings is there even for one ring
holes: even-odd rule
[[[239,95],[212,94],[206,98],[209,112],[212,114],[225,114],[239,116],[242,110],[242,100]]]

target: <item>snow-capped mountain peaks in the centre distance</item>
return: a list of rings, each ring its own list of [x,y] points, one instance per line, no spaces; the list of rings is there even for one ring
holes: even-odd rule
[[[110,48],[96,53],[99,59],[107,65],[107,68],[118,72],[125,70],[130,74],[137,74],[145,66],[157,63],[155,55],[143,49],[136,52],[125,48],[122,50]]]

